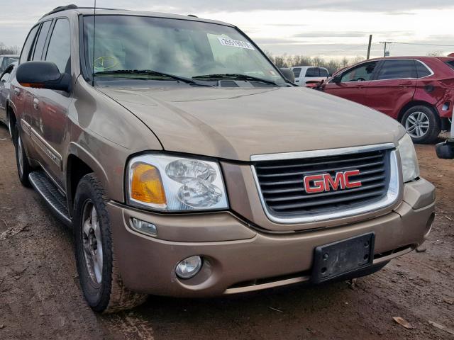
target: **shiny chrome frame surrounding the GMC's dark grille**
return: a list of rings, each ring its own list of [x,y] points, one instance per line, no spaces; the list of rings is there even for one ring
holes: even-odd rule
[[[259,161],[275,161],[275,160],[289,160],[289,159],[306,159],[306,158],[314,158],[314,157],[329,157],[329,156],[340,156],[343,154],[360,154],[364,152],[372,152],[372,151],[379,151],[379,150],[388,150],[389,157],[384,157],[387,159],[389,164],[384,164],[384,166],[388,166],[389,169],[389,182],[387,183],[387,191],[380,200],[375,200],[372,203],[368,202],[365,205],[356,205],[354,207],[346,207],[344,210],[335,210],[335,211],[325,211],[325,212],[317,212],[317,213],[308,213],[306,215],[297,215],[294,217],[282,217],[277,215],[275,212],[270,210],[267,203],[265,202],[265,198],[262,194],[262,187],[261,183],[258,179],[258,174],[255,169],[255,165],[251,165],[251,170],[253,172],[253,177],[255,181],[255,186],[257,187],[260,201],[262,203],[262,208],[265,211],[267,217],[272,221],[279,224],[295,224],[295,223],[310,223],[310,222],[321,222],[326,220],[336,220],[338,218],[343,217],[352,217],[355,215],[361,215],[366,212],[372,212],[375,210],[380,210],[382,208],[387,208],[394,203],[397,202],[399,199],[400,191],[401,191],[401,182],[400,179],[400,171],[399,171],[399,163],[398,163],[398,155],[397,150],[395,149],[394,144],[388,143],[383,145],[370,145],[367,147],[349,147],[343,149],[328,149],[328,150],[316,150],[315,152],[290,152],[286,154],[266,154],[266,155],[257,155],[251,156],[250,159],[253,162]],[[279,164],[277,164],[279,166]],[[372,171],[373,172],[373,171]],[[373,176],[373,174],[371,174]],[[302,181],[301,181],[302,182]],[[285,190],[285,189],[284,189]],[[351,189],[354,190],[354,189]],[[289,189],[292,191],[292,188]],[[350,191],[351,192],[351,191]],[[309,196],[309,200],[311,197]],[[336,194],[331,196],[332,198],[336,197]]]

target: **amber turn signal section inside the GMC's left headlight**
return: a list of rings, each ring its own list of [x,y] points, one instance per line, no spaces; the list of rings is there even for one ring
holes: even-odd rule
[[[165,208],[167,200],[159,170],[153,165],[138,162],[133,164],[131,171],[131,198]]]

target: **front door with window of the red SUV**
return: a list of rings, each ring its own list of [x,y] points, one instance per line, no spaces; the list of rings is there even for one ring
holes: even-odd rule
[[[347,69],[341,75],[341,82],[336,84],[331,80],[326,84],[324,91],[366,105],[367,86],[370,85],[370,81],[375,75],[377,64],[378,62],[364,62]]]

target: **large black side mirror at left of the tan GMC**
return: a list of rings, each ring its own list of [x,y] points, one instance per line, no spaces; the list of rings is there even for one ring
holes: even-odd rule
[[[53,62],[24,62],[17,68],[16,79],[24,87],[70,91],[71,76],[60,73]]]

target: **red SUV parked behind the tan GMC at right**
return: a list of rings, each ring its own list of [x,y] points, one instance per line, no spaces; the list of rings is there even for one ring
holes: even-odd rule
[[[339,70],[321,87],[328,94],[386,113],[404,125],[414,142],[429,143],[450,127],[454,58],[366,60]]]

